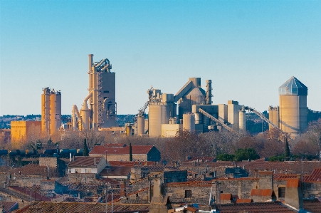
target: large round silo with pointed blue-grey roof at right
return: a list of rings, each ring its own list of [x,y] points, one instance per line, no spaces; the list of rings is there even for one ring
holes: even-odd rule
[[[292,76],[279,88],[280,129],[295,137],[307,128],[307,87]]]

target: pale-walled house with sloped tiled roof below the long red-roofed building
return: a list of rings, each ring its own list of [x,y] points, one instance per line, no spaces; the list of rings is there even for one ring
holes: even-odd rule
[[[68,173],[99,174],[107,165],[105,157],[77,156],[68,164]]]

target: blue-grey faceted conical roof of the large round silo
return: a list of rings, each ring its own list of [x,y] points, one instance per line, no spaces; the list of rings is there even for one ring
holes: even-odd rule
[[[307,87],[292,76],[278,88],[279,95],[307,95]]]

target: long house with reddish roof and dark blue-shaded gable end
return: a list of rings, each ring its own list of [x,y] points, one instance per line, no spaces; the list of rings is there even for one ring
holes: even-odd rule
[[[120,144],[97,145],[89,152],[90,157],[105,157],[107,161],[130,161],[130,146]],[[132,145],[133,161],[161,159],[159,150],[153,145]]]

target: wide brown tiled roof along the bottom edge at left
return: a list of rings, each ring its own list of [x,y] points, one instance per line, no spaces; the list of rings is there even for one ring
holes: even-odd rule
[[[111,212],[111,206],[107,205],[107,212]],[[148,205],[113,205],[113,212],[149,212]],[[105,204],[100,203],[78,203],[78,202],[33,202],[32,204],[14,211],[14,213],[48,213],[48,212],[64,212],[64,213],[98,213],[105,212]]]

